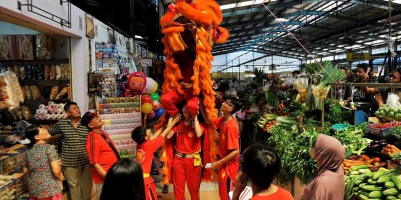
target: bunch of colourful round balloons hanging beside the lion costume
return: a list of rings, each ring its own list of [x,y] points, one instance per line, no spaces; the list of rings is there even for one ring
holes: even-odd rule
[[[146,80],[147,83],[152,83],[148,82],[148,78]],[[150,79],[150,81],[153,81],[152,78]],[[153,82],[156,85],[156,89],[152,89],[147,92],[150,95],[145,94],[141,96],[141,109],[144,114],[148,114],[148,119],[159,118],[165,113],[165,109],[163,109],[160,104],[160,96],[157,93],[154,93],[157,90],[157,83],[155,81]],[[148,84],[146,85],[146,87],[148,87]],[[146,87],[145,89],[143,89],[144,91],[146,90]]]

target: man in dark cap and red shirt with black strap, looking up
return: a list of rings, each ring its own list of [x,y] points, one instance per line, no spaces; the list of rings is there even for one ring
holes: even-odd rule
[[[93,112],[86,112],[81,119],[81,124],[89,129],[88,138],[86,139],[86,151],[99,199],[108,169],[121,157],[110,136],[102,130],[104,123],[99,115]]]

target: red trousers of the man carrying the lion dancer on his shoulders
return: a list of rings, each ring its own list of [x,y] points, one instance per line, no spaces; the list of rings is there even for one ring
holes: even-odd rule
[[[199,199],[202,166],[193,166],[193,157],[175,156],[173,160],[173,184],[176,200],[185,200],[185,182],[192,200]]]

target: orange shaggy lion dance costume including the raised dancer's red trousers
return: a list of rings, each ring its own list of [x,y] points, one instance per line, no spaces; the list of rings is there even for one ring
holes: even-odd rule
[[[225,43],[229,33],[220,23],[223,21],[220,6],[213,0],[184,0],[169,6],[169,11],[161,18],[162,43],[165,46],[166,70],[162,86],[161,102],[170,116],[179,110],[177,105],[187,102],[192,115],[198,111],[199,96],[203,96],[203,106],[209,118],[217,116],[212,89],[210,70],[214,43]],[[162,119],[161,126],[166,122]],[[156,127],[156,129],[159,127]],[[163,167],[163,184],[172,183],[171,162],[174,148],[166,139],[161,161]],[[205,127],[203,140],[203,163],[216,161],[218,155],[218,133],[215,127]],[[203,174],[204,181],[217,178],[211,170]]]

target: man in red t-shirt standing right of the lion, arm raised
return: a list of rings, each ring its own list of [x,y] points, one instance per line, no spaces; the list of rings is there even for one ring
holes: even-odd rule
[[[207,124],[220,128],[218,153],[219,160],[212,163],[211,169],[218,168],[218,194],[221,200],[229,200],[228,192],[234,187],[235,176],[238,173],[238,157],[240,154],[240,132],[233,113],[241,109],[238,98],[227,98],[220,108],[223,116],[209,119],[202,104],[200,111]]]

